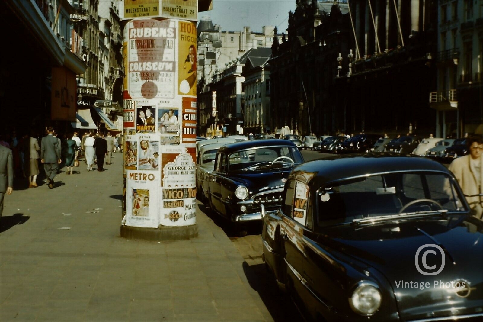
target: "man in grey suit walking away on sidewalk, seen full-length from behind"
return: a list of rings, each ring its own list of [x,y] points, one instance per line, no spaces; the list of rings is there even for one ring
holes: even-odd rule
[[[42,146],[40,148],[40,161],[43,163],[45,176],[49,181],[49,189],[54,189],[54,178],[57,175],[58,164],[62,161],[60,159],[60,146],[57,138],[52,134],[54,128],[47,129],[48,134],[42,138]]]

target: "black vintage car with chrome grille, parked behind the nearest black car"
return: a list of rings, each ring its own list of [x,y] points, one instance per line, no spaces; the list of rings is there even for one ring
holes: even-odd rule
[[[289,140],[253,140],[227,144],[216,153],[214,170],[205,176],[205,194],[213,211],[236,223],[261,220],[260,205],[276,211],[290,171],[303,162]],[[239,225],[241,224],[241,225]]]

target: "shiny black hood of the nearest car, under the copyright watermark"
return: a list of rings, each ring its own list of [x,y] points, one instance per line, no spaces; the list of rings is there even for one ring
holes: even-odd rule
[[[427,318],[428,312],[434,312],[431,317],[472,314],[483,307],[483,222],[474,217],[448,216],[447,219],[437,217],[367,227],[346,226],[337,230],[329,243],[387,278],[403,321]],[[440,245],[444,250],[445,265],[438,275],[426,276],[416,268],[416,252],[426,244]],[[422,249],[418,256],[421,268],[424,267],[421,263],[424,252]],[[440,253],[428,254],[426,263],[440,267]],[[469,294],[467,291],[456,293],[458,289],[446,288],[446,284],[441,287],[441,283],[452,281],[465,281],[471,288]],[[428,282],[429,287],[425,285],[423,290],[404,287],[404,282],[417,282],[418,285]]]

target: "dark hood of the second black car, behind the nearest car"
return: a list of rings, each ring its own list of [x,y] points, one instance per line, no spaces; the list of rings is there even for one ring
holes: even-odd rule
[[[240,182],[245,185],[250,193],[258,193],[261,191],[267,191],[270,189],[283,188],[288,175],[292,171],[294,166],[288,166],[280,169],[274,169],[273,171],[240,171],[236,174],[232,174],[229,178],[233,181]],[[283,181],[284,180],[284,181]],[[268,188],[267,188],[268,187]]]

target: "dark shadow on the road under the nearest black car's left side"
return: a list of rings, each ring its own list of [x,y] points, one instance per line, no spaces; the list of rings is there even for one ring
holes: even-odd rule
[[[265,264],[250,266],[247,262],[243,262],[243,272],[252,289],[258,292],[273,321],[302,320],[292,299],[278,289],[275,278],[265,268]]]

